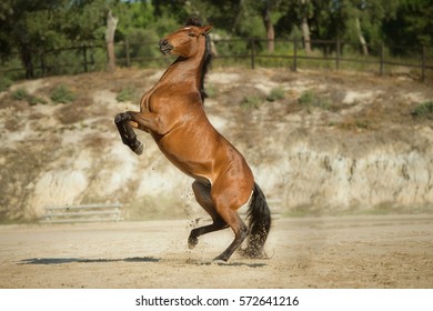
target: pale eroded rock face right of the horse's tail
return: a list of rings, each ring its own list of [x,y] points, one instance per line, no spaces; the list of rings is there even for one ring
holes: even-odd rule
[[[285,207],[335,211],[406,207],[414,211],[433,202],[433,131],[424,131],[430,139],[417,139],[417,143],[373,143],[375,138],[370,137],[371,146],[354,148],[361,142],[352,138],[352,148],[345,150],[339,141],[325,149],[301,140],[281,151],[270,175],[264,175],[264,165],[258,171],[264,172],[266,189],[282,189]]]

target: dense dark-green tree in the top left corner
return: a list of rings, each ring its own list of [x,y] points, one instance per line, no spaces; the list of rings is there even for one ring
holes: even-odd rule
[[[26,78],[34,77],[33,60],[48,50],[102,38],[104,16],[117,0],[2,0],[0,53],[18,52]]]

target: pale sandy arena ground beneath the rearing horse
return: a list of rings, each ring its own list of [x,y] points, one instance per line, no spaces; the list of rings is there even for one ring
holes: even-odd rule
[[[271,259],[213,264],[185,220],[0,227],[0,288],[433,288],[433,215],[282,218]]]

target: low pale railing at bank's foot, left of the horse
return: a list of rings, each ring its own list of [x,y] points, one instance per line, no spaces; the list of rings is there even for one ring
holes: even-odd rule
[[[123,221],[122,204],[82,204],[47,207],[40,223],[111,222]]]

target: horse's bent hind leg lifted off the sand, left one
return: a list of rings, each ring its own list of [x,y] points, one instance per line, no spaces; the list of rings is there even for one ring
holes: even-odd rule
[[[190,237],[188,238],[188,244],[190,249],[197,245],[200,235],[228,228],[228,224],[216,212],[215,207],[212,202],[211,187],[200,183],[199,181],[194,181],[192,183],[192,190],[194,191],[195,200],[210,214],[213,222],[212,224],[191,230]]]

